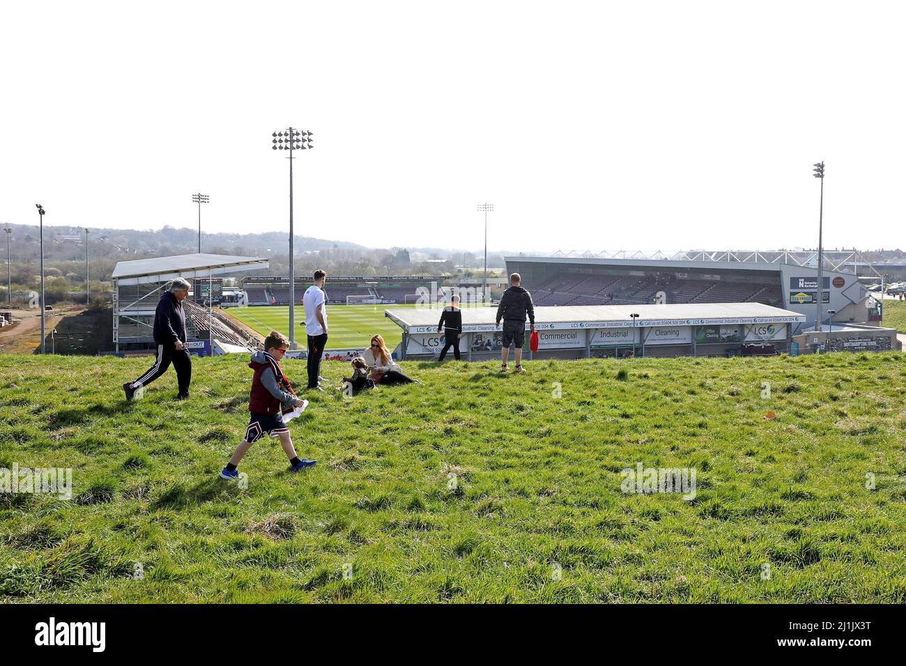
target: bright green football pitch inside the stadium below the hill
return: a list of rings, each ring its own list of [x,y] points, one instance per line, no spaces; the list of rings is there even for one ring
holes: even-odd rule
[[[389,349],[393,349],[402,340],[402,329],[384,316],[384,310],[416,307],[415,304],[380,304],[380,305],[328,305],[327,306],[327,348],[343,349],[346,347],[367,347],[371,336],[381,333]],[[424,307],[424,306],[420,306]],[[251,326],[258,333],[267,335],[279,331],[289,335],[288,305],[258,305],[254,307],[232,307],[225,310],[236,319]],[[438,319],[440,312],[438,307]],[[296,332],[298,343],[304,343],[305,313],[302,305],[295,309]]]

